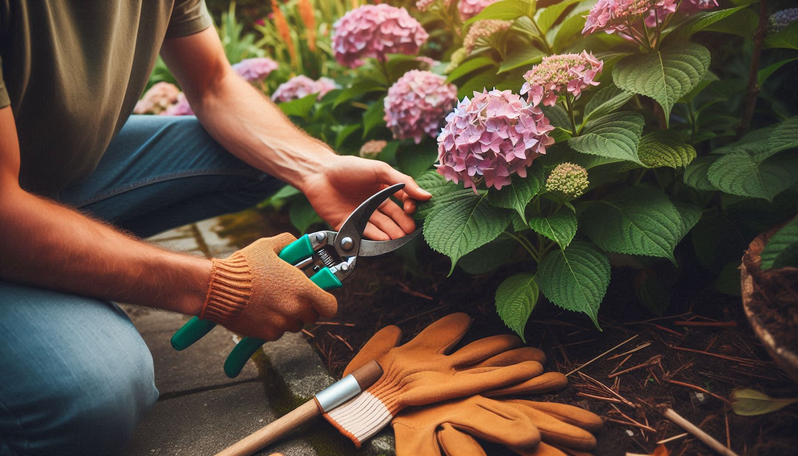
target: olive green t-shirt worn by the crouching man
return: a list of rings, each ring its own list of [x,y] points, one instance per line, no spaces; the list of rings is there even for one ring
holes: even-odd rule
[[[0,108],[14,113],[22,188],[54,197],[89,176],[164,38],[208,26],[204,0],[0,0]]]

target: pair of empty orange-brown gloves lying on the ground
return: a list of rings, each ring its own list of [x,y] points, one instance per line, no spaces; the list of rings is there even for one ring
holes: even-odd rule
[[[595,448],[591,431],[603,424],[598,415],[553,402],[508,399],[567,385],[559,372],[543,373],[542,351],[520,347],[514,335],[495,335],[449,354],[470,326],[468,315],[448,315],[402,346],[397,346],[398,327],[377,331],[344,375],[372,359],[384,374],[325,418],[358,447],[390,422],[397,456],[484,455],[476,438],[522,456],[581,456]]]

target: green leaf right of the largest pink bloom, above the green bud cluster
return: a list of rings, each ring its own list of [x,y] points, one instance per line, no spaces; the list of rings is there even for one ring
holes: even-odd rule
[[[640,163],[638,142],[645,125],[638,113],[621,111],[599,117],[587,125],[587,132],[568,140],[581,153]]]

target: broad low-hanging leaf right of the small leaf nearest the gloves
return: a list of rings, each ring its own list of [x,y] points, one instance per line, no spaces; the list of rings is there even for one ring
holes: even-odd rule
[[[584,312],[599,327],[599,305],[610,285],[610,260],[595,245],[572,242],[540,262],[536,279],[543,295],[559,307]]]

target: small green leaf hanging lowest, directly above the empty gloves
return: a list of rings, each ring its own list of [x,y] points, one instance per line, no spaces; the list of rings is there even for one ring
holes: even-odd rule
[[[508,328],[516,331],[523,343],[527,342],[523,328],[538,302],[538,294],[535,274],[531,273],[509,276],[496,290],[496,313]]]

